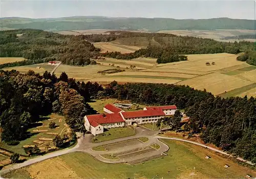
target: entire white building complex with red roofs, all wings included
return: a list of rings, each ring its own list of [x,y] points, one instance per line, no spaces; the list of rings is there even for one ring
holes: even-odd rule
[[[158,119],[168,115],[174,115],[177,107],[155,106],[146,107],[140,111],[123,111],[112,104],[105,105],[103,111],[107,114],[95,114],[84,116],[86,130],[94,136],[103,133],[104,128],[123,127],[134,123],[144,124],[157,122]]]

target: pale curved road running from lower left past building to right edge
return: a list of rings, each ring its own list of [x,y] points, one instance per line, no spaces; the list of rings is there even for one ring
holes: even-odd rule
[[[82,137],[80,137],[78,139],[78,141],[77,141],[77,144],[73,148],[66,148],[66,149],[63,149],[63,150],[58,150],[58,151],[46,154],[44,156],[40,156],[40,157],[36,157],[36,158],[30,159],[30,160],[27,160],[27,161],[25,161],[23,163],[20,163],[20,164],[14,164],[14,165],[6,168],[6,169],[1,170],[0,171],[0,175],[8,173],[9,171],[14,170],[14,169],[22,168],[22,167],[25,167],[25,166],[28,166],[28,165],[31,165],[31,164],[34,164],[34,163],[37,163],[37,162],[41,162],[41,161],[53,158],[53,157],[65,155],[65,154],[68,154],[70,152],[83,151],[83,152],[88,152],[89,154],[95,156],[96,152],[93,151],[93,150],[89,150],[91,147],[100,146],[100,145],[106,145],[106,144],[112,144],[112,143],[121,142],[121,141],[125,141],[125,140],[136,139],[138,137],[147,137],[150,141],[154,141],[154,138],[155,138],[155,140],[158,141],[157,143],[160,144],[161,146],[166,145],[166,144],[164,144],[163,142],[159,141],[158,139],[170,139],[170,140],[177,140],[177,141],[182,141],[182,142],[188,142],[188,143],[192,143],[192,144],[195,144],[195,145],[199,145],[199,146],[208,148],[208,149],[210,149],[212,151],[219,152],[220,154],[232,157],[231,155],[227,154],[227,152],[224,152],[222,150],[218,150],[218,149],[216,149],[214,147],[209,147],[209,146],[201,144],[199,142],[194,142],[194,141],[189,141],[189,140],[179,139],[179,138],[173,138],[173,137],[157,136],[156,135],[158,133],[157,131],[145,130],[145,129],[142,129],[140,127],[138,127],[136,129],[136,131],[137,131],[137,134],[134,135],[134,136],[114,139],[114,140],[110,140],[110,141],[98,142],[98,143],[90,143],[90,137],[89,137],[90,135],[88,135],[84,139]],[[168,149],[166,149],[165,146],[163,148],[164,148],[165,151],[168,150]],[[161,152],[164,152],[164,151],[161,151]],[[102,160],[103,158],[100,159],[98,157],[96,159],[98,159],[100,161],[103,161],[103,162],[106,162],[106,163],[120,163],[120,162],[116,162],[116,161],[113,161],[113,160],[105,161],[105,160]],[[244,160],[242,158],[237,158],[237,159],[242,161],[242,162],[246,162],[247,164],[255,165],[252,162],[246,161],[246,160]]]

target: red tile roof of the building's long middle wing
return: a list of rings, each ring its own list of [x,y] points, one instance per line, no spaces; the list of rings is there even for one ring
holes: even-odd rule
[[[141,110],[141,111],[122,112],[122,115],[124,118],[164,116],[164,112],[162,110]]]

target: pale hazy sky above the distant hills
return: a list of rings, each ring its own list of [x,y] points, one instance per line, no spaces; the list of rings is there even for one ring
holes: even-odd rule
[[[255,0],[256,1],[256,0]],[[254,19],[254,0],[243,1],[59,1],[0,0],[1,17],[67,16]]]

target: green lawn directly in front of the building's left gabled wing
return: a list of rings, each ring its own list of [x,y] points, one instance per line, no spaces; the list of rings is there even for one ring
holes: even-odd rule
[[[102,134],[95,136],[92,139],[92,142],[102,142],[106,140],[113,140],[121,137],[133,136],[134,130],[129,127],[118,127],[118,128],[111,128],[109,131],[106,131]]]

